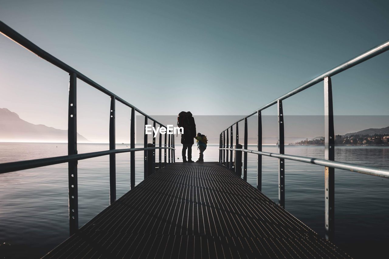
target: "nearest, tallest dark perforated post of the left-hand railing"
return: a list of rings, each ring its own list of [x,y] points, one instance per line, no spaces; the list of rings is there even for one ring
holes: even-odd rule
[[[68,108],[68,155],[77,154],[77,75],[70,73]],[[77,161],[68,163],[70,236],[78,231]]]

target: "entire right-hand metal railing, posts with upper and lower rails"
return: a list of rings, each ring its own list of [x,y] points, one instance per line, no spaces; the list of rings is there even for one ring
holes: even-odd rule
[[[279,205],[285,208],[285,164],[284,160],[294,160],[304,163],[310,163],[314,165],[324,166],[324,193],[325,193],[325,230],[326,230],[326,239],[333,240],[334,231],[335,231],[335,168],[348,170],[357,173],[365,173],[369,175],[376,175],[380,177],[389,178],[389,169],[381,168],[377,166],[365,166],[365,165],[356,165],[352,163],[345,163],[335,161],[335,136],[334,136],[334,119],[333,119],[333,100],[332,100],[332,85],[331,77],[336,75],[352,66],[355,66],[363,61],[366,61],[378,54],[384,53],[389,49],[389,41],[384,42],[365,53],[362,53],[359,56],[356,56],[349,61],[336,66],[335,68],[328,70],[325,73],[322,73],[318,77],[306,82],[305,84],[297,87],[296,89],[286,93],[279,98],[271,101],[270,103],[262,106],[261,108],[255,110],[249,115],[239,119],[234,122],[230,127],[225,129],[220,133],[220,142],[219,142],[219,163],[229,167],[231,170],[234,170],[237,175],[242,175],[242,152],[244,152],[243,158],[243,179],[247,181],[247,153],[258,154],[258,168],[257,168],[257,188],[261,191],[262,185],[262,156],[270,156],[273,158],[278,158],[278,182],[279,182],[279,192],[278,199]],[[284,143],[284,112],[282,107],[282,101],[286,98],[293,96],[296,93],[299,93],[308,87],[311,87],[321,81],[324,81],[324,146],[325,146],[325,159],[310,158],[303,156],[292,156],[285,154],[285,143]],[[261,111],[271,107],[272,105],[277,104],[277,114],[278,114],[278,154],[262,152],[262,118]],[[247,149],[247,118],[252,115],[257,115],[258,117],[258,150],[248,150]],[[240,121],[244,120],[244,146],[239,144],[239,129],[238,124]],[[236,126],[235,133],[235,145],[233,148],[233,126]],[[229,134],[230,131],[230,134]],[[230,140],[229,140],[230,135]],[[230,147],[228,143],[230,141]],[[227,142],[227,143],[226,143]],[[228,161],[228,152],[230,151],[230,162]],[[233,151],[235,151],[235,162],[233,159]]]

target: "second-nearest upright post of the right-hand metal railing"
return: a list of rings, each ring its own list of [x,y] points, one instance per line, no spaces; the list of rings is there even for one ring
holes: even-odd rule
[[[285,154],[284,139],[284,113],[282,111],[282,101],[277,101],[278,112],[278,152]],[[278,202],[285,208],[285,163],[283,158],[278,159]]]

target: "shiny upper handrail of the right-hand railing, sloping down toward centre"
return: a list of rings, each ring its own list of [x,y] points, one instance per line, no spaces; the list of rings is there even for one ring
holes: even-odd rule
[[[372,49],[356,56],[355,58],[350,59],[349,61],[346,61],[338,66],[335,66],[334,68],[328,70],[327,72],[322,73],[321,75],[306,82],[305,84],[302,84],[301,86],[293,89],[292,91],[280,96],[279,98],[271,101],[270,103],[263,105],[261,108],[256,109],[254,112],[251,112],[250,114],[246,115],[245,117],[234,122],[231,126],[234,126],[237,122],[243,121],[244,119],[251,117],[252,115],[256,114],[258,111],[265,110],[266,108],[269,108],[270,106],[275,105],[277,103],[277,101],[279,101],[279,100],[281,100],[281,101],[285,100],[286,98],[288,98],[296,93],[300,93],[301,91],[303,91],[311,86],[314,86],[315,84],[324,80],[324,77],[331,77],[333,75],[336,75],[344,70],[349,69],[350,67],[353,67],[355,65],[358,65],[359,63],[362,63],[363,61],[366,61],[370,58],[373,58],[373,57],[377,56],[378,54],[384,53],[387,50],[389,50],[389,40],[385,41],[384,43],[382,43],[378,46],[373,47]],[[228,128],[230,128],[230,127],[228,127]],[[227,129],[224,129],[224,131],[226,131]]]

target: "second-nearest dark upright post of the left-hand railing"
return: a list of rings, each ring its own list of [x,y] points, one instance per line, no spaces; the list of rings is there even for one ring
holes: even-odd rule
[[[111,96],[109,149],[115,149],[115,96]],[[116,201],[116,154],[109,155],[109,204]]]

